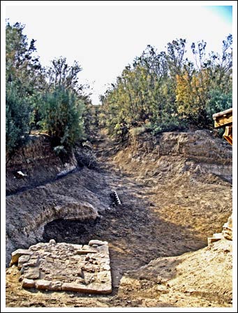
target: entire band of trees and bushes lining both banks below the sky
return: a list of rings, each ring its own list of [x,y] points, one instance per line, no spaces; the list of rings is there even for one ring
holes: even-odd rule
[[[40,65],[36,40],[28,43],[20,23],[6,24],[6,151],[24,143],[32,129],[52,136],[55,151],[70,150],[90,132],[91,124],[126,139],[129,132],[183,130],[189,125],[213,127],[212,114],[232,107],[232,35],[223,40],[222,55],[206,54],[206,43],[193,43],[194,61],[186,57],[186,40],[157,52],[148,45],[91,105],[78,82],[82,68],[66,58]]]

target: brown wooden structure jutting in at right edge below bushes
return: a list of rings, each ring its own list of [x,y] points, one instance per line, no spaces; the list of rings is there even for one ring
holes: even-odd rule
[[[225,128],[223,137],[232,145],[232,108],[213,114],[214,128]]]

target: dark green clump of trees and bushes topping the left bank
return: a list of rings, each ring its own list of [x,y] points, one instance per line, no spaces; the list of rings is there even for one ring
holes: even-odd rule
[[[83,114],[90,104],[87,86],[78,83],[77,61],[54,59],[49,68],[35,56],[20,23],[6,24],[6,152],[11,155],[38,129],[52,136],[58,153],[84,137]]]

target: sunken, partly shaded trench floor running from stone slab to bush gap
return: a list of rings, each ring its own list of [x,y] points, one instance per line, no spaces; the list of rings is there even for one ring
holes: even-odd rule
[[[160,176],[147,178],[146,173],[145,179],[138,179],[139,172],[148,165],[130,162],[124,164],[124,169],[118,168],[112,162],[117,152],[117,146],[115,148],[107,139],[96,146],[99,170],[91,175],[97,181],[94,185],[87,183],[87,188],[97,194],[101,202],[108,204],[110,211],[101,211],[94,221],[54,220],[45,226],[43,234],[45,241],[52,238],[57,242],[75,244],[87,244],[92,239],[107,241],[113,287],[119,286],[120,277],[125,272],[136,270],[153,259],[175,257],[205,247],[207,236],[219,231],[229,216],[229,213],[224,215],[224,210],[229,211],[229,208],[223,203],[216,204],[218,218],[216,220],[214,216],[212,224],[210,222],[211,213],[207,205],[218,192],[216,181],[212,181],[214,176],[211,181],[208,181],[210,176],[203,176],[203,180],[207,179],[205,183],[186,173],[171,176],[168,182],[164,178],[161,181]],[[120,162],[123,164],[124,160],[126,153]],[[172,164],[172,168],[177,166],[179,170],[183,162],[181,165]],[[117,190],[121,206],[111,206],[112,190]],[[198,197],[195,196],[197,192]],[[223,210],[221,216],[218,213],[220,206]]]

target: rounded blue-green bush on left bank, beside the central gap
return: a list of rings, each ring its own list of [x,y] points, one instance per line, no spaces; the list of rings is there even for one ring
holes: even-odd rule
[[[85,93],[88,86],[78,82],[81,70],[77,61],[69,66],[62,56],[54,59],[45,71],[45,93],[37,107],[42,119],[38,124],[53,137],[54,146],[66,150],[84,137],[85,126],[89,131],[87,112],[91,100]]]

